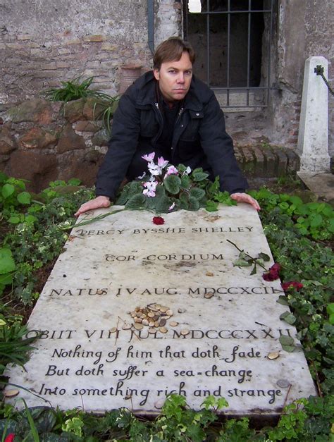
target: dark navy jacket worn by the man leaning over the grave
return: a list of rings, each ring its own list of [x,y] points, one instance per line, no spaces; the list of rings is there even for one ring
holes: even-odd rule
[[[225,132],[225,120],[216,96],[204,82],[192,78],[190,90],[175,121],[171,164],[202,167],[210,178],[219,176],[221,190],[244,192],[247,180],[235,160],[233,142]],[[147,171],[142,155],[161,154],[159,137],[163,128],[161,106],[156,97],[156,80],[151,72],[138,78],[120,98],[113,116],[109,149],[97,176],[96,193],[113,197],[123,178]],[[168,149],[169,150],[169,149]]]

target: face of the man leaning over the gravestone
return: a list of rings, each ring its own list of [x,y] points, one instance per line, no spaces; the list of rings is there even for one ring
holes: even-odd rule
[[[166,102],[173,103],[185,98],[192,81],[192,63],[187,51],[183,52],[179,61],[161,63],[161,68],[153,72]]]

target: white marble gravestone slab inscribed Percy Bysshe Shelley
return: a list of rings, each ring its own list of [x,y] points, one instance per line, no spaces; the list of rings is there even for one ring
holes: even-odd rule
[[[37,349],[26,372],[10,370],[11,383],[35,393],[18,398],[154,414],[169,393],[195,409],[214,395],[230,415],[275,415],[315,395],[299,342],[294,352],[279,343],[296,334],[279,319],[280,281],[233,266],[239,252],[227,240],[271,256],[256,211],[239,204],[163,218],[156,226],[150,212],[121,211],[73,228],[28,323],[43,331]]]

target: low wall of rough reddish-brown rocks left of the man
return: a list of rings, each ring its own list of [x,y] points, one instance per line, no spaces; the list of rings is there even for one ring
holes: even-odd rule
[[[8,109],[0,118],[0,170],[28,180],[33,192],[51,180],[94,184],[109,136],[93,109],[92,99],[65,106],[32,99]]]

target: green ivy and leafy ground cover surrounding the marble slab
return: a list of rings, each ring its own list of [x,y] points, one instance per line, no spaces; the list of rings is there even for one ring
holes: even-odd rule
[[[209,201],[209,204],[205,202],[206,208],[215,210],[216,203],[224,200],[230,204],[228,196],[218,191],[217,182],[208,185],[206,176],[201,173],[198,171],[194,187],[204,190]],[[171,195],[177,195],[173,192],[180,193],[182,185],[173,180],[175,183],[169,183],[169,188],[167,185],[167,192],[172,190]],[[128,187],[139,190],[137,185],[130,183]],[[190,192],[190,188],[187,190]],[[204,204],[203,192],[192,192],[192,197]],[[261,204],[264,231],[273,257],[280,264],[280,276],[283,281],[289,281],[285,296],[278,302],[289,306],[291,312],[287,311],[282,319],[297,327],[319,398],[301,399],[287,405],[276,426],[262,429],[252,428],[247,418],[218,422],[216,410],[223,410],[226,403],[223,398],[213,397],[206,398],[202,410],[194,411],[187,407],[185,398],[171,395],[153,421],[135,417],[126,408],[97,417],[79,410],[60,412],[49,407],[25,407],[17,412],[11,405],[1,403],[2,441],[9,434],[16,435],[15,441],[333,440],[330,425],[334,411],[334,266],[333,252],[326,247],[333,234],[333,209],[323,202],[302,202],[300,198],[273,194],[267,189],[252,195]],[[132,196],[128,193],[128,200]],[[27,351],[33,343],[25,339],[25,311],[33,305],[42,288],[39,286],[42,272],[47,274],[48,266],[58,257],[68,238],[63,225],[73,223],[73,213],[90,197],[93,197],[92,190],[80,187],[78,180],[56,181],[39,195],[32,195],[26,191],[23,180],[0,173],[1,372],[10,361],[24,364],[27,360]],[[188,207],[190,203],[188,198]],[[266,262],[264,256],[243,259],[252,266]]]

